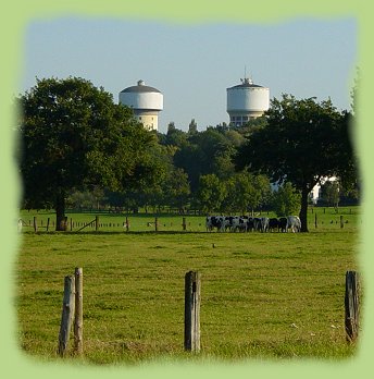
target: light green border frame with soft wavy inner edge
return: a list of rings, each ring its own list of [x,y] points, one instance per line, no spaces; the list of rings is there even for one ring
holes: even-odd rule
[[[0,23],[1,38],[1,87],[0,87],[0,168],[2,184],[1,209],[3,210],[0,227],[1,241],[1,289],[2,306],[0,317],[0,357],[1,369],[10,377],[32,376],[66,377],[77,376],[96,378],[105,375],[105,378],[123,377],[144,378],[151,375],[153,378],[184,378],[196,376],[205,378],[214,376],[226,378],[227,376],[257,376],[264,377],[351,377],[365,376],[373,366],[373,281],[371,272],[373,267],[372,236],[370,215],[373,213],[373,174],[371,174],[371,161],[373,160],[372,137],[373,132],[370,122],[372,99],[370,90],[373,84],[374,53],[372,52],[371,36],[374,32],[373,12],[367,0],[64,0],[51,2],[47,0],[13,1],[3,5]],[[284,363],[250,360],[246,364],[227,365],[212,363],[205,365],[189,364],[163,364],[145,365],[136,368],[127,367],[86,367],[68,364],[35,363],[23,355],[16,342],[16,320],[13,306],[14,258],[18,247],[15,220],[17,219],[17,200],[21,195],[18,178],[14,163],[14,149],[16,140],[12,133],[12,123],[15,114],[12,111],[12,99],[16,94],[17,81],[23,68],[24,35],[29,22],[48,20],[60,16],[83,17],[113,17],[135,21],[161,21],[166,23],[261,23],[272,24],[287,22],[298,17],[336,20],[341,17],[354,17],[358,22],[358,65],[361,80],[359,90],[359,109],[356,143],[360,151],[361,173],[364,178],[364,213],[361,237],[363,244],[360,250],[362,274],[365,279],[365,303],[363,309],[363,329],[360,349],[356,357],[337,363],[316,360],[285,360]],[[348,78],[347,78],[348,82]],[[366,321],[366,322],[365,322]],[[63,370],[62,370],[63,368]]]

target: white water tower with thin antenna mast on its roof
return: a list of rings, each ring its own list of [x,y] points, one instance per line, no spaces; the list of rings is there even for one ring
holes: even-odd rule
[[[226,90],[230,125],[242,126],[249,120],[262,115],[269,109],[269,88],[253,84],[248,77],[241,80],[241,84]]]

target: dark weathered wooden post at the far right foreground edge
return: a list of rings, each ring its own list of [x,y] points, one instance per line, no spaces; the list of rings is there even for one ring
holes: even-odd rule
[[[354,342],[359,335],[360,327],[360,283],[359,273],[356,271],[346,272],[346,340]]]

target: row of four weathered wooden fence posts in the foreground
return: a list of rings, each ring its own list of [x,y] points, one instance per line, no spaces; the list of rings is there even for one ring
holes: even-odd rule
[[[198,353],[200,351],[200,304],[201,274],[188,271],[185,274],[185,351]],[[360,284],[356,271],[346,272],[345,293],[345,329],[346,340],[356,342],[360,327]],[[83,269],[76,268],[75,274],[65,277],[62,304],[61,327],[59,334],[58,354],[66,355],[67,343],[74,326],[74,353],[83,354]]]

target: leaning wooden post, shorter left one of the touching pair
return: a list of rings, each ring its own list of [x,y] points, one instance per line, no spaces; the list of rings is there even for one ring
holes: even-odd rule
[[[74,315],[75,305],[75,279],[74,277],[65,277],[64,281],[64,297],[62,301],[62,316],[59,334],[59,349],[58,354],[64,356],[67,349],[67,342],[70,331],[72,327],[72,320]]]

